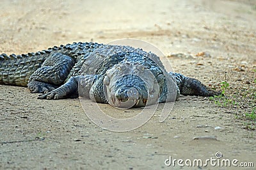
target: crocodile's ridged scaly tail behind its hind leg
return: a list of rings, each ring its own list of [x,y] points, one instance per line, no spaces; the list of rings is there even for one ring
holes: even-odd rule
[[[0,84],[27,86],[31,74],[44,62],[46,53],[45,50],[17,56],[0,54]]]

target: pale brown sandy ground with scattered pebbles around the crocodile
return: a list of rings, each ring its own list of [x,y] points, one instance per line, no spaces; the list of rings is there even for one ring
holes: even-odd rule
[[[221,107],[209,98],[181,97],[163,123],[156,115],[136,130],[110,132],[88,119],[78,98],[37,100],[26,88],[0,85],[0,169],[235,168],[164,164],[170,157],[205,161],[216,152],[223,154],[216,160],[255,168],[256,134],[243,118],[255,107],[255,1],[2,0],[0,6],[0,53],[138,38],[169,56],[175,72],[219,90],[226,80],[227,95],[237,102]],[[193,139],[205,135],[217,140]]]

